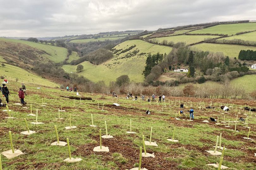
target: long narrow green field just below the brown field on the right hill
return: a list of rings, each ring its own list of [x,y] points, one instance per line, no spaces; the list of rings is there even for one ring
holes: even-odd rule
[[[178,36],[152,38],[151,40],[155,42],[160,42],[160,43],[162,43],[163,40],[167,40],[168,42],[172,41],[174,43],[185,42],[186,44],[192,44],[192,43],[197,43],[199,41],[203,41],[206,38],[217,38],[217,37],[218,36],[210,36],[210,35],[178,35]]]

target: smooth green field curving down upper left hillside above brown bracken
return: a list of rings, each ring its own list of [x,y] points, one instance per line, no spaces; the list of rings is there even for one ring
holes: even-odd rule
[[[17,39],[7,39],[7,38],[0,38],[0,41],[7,41],[7,42],[13,42],[13,43],[20,43],[20,44],[26,44],[31,47],[44,50],[49,55],[45,54],[44,56],[48,59],[54,61],[54,62],[63,62],[67,56],[67,49],[63,47],[57,47],[53,45],[46,45],[41,43],[34,43],[29,41],[23,41],[23,40],[17,40]]]

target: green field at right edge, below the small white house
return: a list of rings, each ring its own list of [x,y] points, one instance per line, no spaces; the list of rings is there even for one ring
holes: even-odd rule
[[[230,81],[236,87],[244,87],[247,91],[256,90],[256,75],[244,75]]]

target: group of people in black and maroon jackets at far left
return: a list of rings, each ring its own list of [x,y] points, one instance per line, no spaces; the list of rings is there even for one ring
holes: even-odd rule
[[[6,85],[8,83],[8,81],[5,79],[4,82],[5,83],[2,84],[2,87],[0,86],[0,91],[3,94],[3,97],[5,97],[6,103],[9,103],[10,92],[9,92],[9,89]],[[26,104],[26,102],[24,101],[25,95],[27,96],[26,86],[24,85],[24,83],[22,83],[21,87],[19,88],[19,92],[18,92],[18,96],[20,98],[20,101],[21,101],[22,105]],[[0,99],[0,106],[5,106],[5,104],[2,103],[2,102],[3,102],[2,99]]]

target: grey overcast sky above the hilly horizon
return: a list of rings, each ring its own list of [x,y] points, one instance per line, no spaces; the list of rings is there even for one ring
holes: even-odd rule
[[[0,36],[46,37],[256,20],[256,0],[0,0]]]

